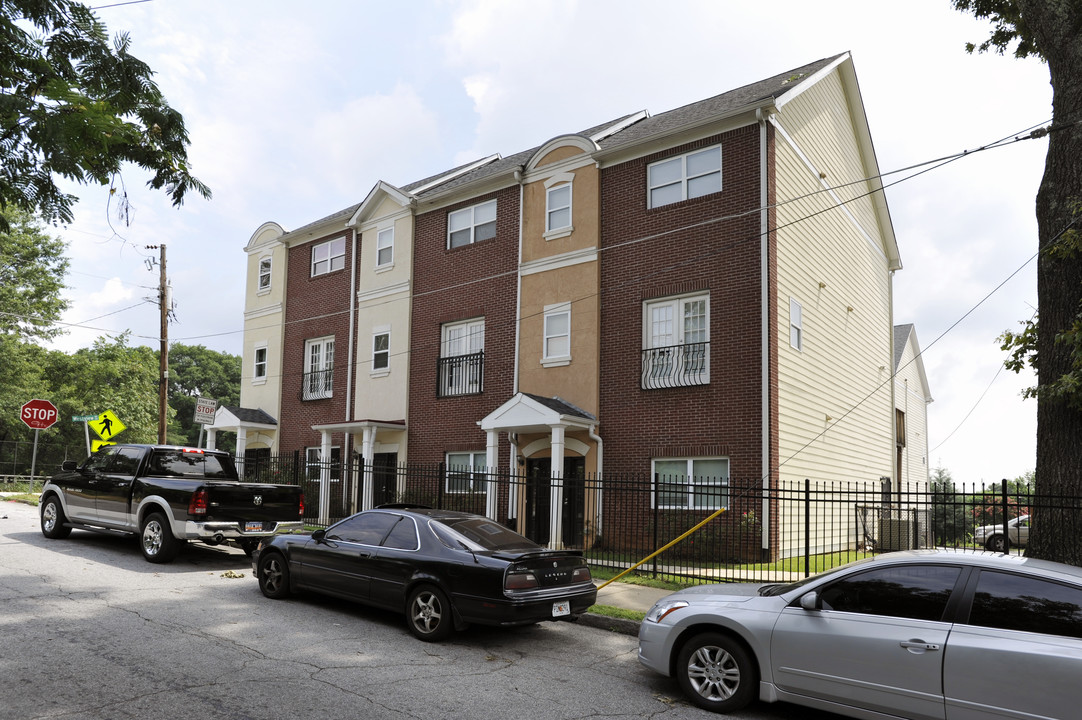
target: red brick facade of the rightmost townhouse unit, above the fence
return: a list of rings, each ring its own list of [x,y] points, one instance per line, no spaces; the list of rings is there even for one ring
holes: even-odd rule
[[[650,162],[717,143],[721,193],[647,209]],[[756,125],[603,170],[606,473],[649,472],[651,458],[724,456],[733,477],[764,474],[758,207]],[[710,293],[709,384],[642,390],[644,301],[692,291]],[[776,367],[770,377],[776,387]]]

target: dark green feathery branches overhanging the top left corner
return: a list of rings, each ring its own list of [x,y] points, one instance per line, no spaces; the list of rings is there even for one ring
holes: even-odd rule
[[[0,2],[0,209],[71,222],[55,183],[109,184],[124,163],[151,173],[173,205],[210,189],[188,169],[184,118],[120,34],[71,0]],[[0,230],[4,220],[0,217]]]

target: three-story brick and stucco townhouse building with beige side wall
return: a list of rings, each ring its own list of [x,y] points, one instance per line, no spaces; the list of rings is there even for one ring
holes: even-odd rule
[[[739,503],[730,479],[898,481],[905,427],[925,428],[920,402],[896,411],[901,262],[847,53],[381,182],[247,251],[241,407],[215,429],[249,457],[362,458],[351,509],[401,489],[380,468],[499,468],[525,484],[441,489],[580,545],[606,477],[664,477],[644,515],[709,511]],[[764,548],[794,541],[747,509]]]

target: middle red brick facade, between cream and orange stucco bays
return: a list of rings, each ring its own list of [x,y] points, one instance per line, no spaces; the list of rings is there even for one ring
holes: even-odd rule
[[[496,237],[448,249],[448,213],[492,198],[497,200]],[[518,207],[519,188],[513,185],[417,217],[410,332],[410,461],[439,462],[447,451],[484,451],[486,436],[477,422],[512,395]],[[484,391],[476,395],[437,397],[441,326],[479,317],[485,318]],[[501,438],[500,457],[507,457],[505,438]]]

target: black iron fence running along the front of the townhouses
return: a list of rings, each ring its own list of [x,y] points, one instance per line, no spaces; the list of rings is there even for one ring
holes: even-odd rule
[[[689,484],[684,476],[611,473],[557,481],[444,463],[306,462],[299,453],[249,462],[242,472],[302,485],[311,526],[366,507],[424,505],[489,514],[541,545],[580,548],[595,566],[637,565],[638,573],[699,581],[783,581],[878,552],[984,549],[997,536],[1018,551],[1025,537],[1008,534],[1007,521],[1042,512],[1082,518],[1082,498],[1040,496],[1006,482],[944,489],[878,480]],[[997,527],[979,532],[986,526]]]

